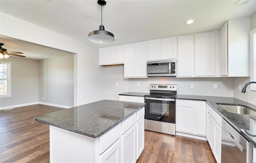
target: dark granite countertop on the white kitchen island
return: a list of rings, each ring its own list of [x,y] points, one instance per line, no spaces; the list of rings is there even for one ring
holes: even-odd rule
[[[101,100],[35,117],[35,120],[89,137],[99,137],[141,108],[144,103]]]

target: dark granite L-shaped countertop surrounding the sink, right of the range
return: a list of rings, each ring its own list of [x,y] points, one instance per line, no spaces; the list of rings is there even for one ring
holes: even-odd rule
[[[248,141],[256,146],[256,116],[230,113],[224,110],[222,107],[218,106],[218,104],[239,104],[242,106],[248,106],[252,110],[256,110],[256,105],[232,97],[193,96],[177,94],[176,99],[206,101],[220,116],[222,116],[222,118],[228,121],[228,123],[230,123],[238,132],[240,132],[240,134],[242,134]]]

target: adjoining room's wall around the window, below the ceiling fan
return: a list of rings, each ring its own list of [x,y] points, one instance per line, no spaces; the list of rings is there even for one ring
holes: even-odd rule
[[[34,104],[38,102],[38,65],[39,61],[19,57],[4,59],[11,62],[12,96],[0,98],[0,107]]]

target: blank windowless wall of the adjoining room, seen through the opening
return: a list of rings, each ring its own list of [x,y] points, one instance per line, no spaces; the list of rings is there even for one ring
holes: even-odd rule
[[[74,56],[39,61],[39,102],[70,108],[74,105]]]

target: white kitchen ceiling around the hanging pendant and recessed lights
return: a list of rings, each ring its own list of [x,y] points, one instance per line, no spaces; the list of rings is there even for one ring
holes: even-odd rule
[[[97,0],[0,0],[0,11],[94,47],[107,47],[221,29],[227,20],[251,16],[256,11],[256,0],[235,6],[237,1],[106,0],[102,25],[116,37],[110,44],[87,39],[88,33],[98,30],[101,24]],[[185,24],[189,19],[194,23]]]

